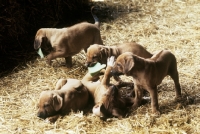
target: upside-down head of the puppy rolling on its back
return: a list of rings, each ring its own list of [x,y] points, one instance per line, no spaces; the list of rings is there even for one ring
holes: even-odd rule
[[[117,87],[114,85],[110,86],[109,89],[105,92],[101,102],[97,103],[93,107],[93,113],[97,116],[100,116],[103,120],[105,120],[109,116],[122,116],[121,112],[118,112],[119,110],[117,108],[118,97],[119,96]]]

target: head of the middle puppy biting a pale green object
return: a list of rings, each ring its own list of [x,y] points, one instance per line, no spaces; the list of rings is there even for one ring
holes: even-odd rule
[[[106,61],[107,61],[106,51],[107,51],[107,48],[102,45],[98,45],[98,44],[91,45],[87,49],[86,66],[92,67],[97,62],[101,64],[106,64]]]

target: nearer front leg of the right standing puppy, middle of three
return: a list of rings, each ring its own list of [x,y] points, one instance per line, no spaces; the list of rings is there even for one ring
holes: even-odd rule
[[[155,114],[155,115],[160,115],[160,112],[158,110],[158,92],[157,92],[157,87],[148,88],[148,91],[149,91],[150,97],[151,97],[152,113]]]

